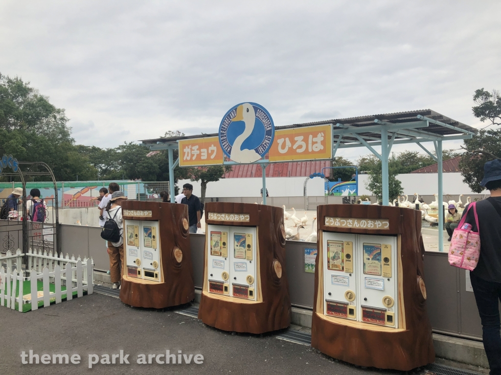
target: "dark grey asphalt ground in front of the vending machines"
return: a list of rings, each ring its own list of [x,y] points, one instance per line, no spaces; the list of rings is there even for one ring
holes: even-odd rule
[[[186,306],[185,306],[186,307]],[[275,332],[277,333],[277,332]],[[22,364],[22,351],[79,354],[80,364]],[[130,364],[94,364],[89,354],[129,354]],[[137,364],[138,354],[202,354],[203,363]],[[95,357],[94,357],[95,358]],[[26,358],[29,360],[29,358]],[[159,357],[159,360],[165,359]],[[51,361],[52,362],[52,361]],[[117,358],[118,362],[118,358]],[[416,369],[410,373],[424,373]],[[130,307],[94,293],[26,313],[0,308],[0,375],[10,374],[400,374],[336,361],[317,350],[277,339],[274,333],[237,334],[209,327],[174,309]]]

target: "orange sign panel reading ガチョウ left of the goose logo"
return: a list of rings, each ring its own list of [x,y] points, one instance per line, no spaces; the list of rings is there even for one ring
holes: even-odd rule
[[[179,141],[179,166],[222,164],[223,153],[217,136]]]

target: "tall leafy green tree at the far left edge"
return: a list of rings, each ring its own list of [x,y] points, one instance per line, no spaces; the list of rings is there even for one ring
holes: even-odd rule
[[[96,169],[78,152],[68,117],[19,77],[0,73],[0,155],[44,161],[58,180],[93,179]]]

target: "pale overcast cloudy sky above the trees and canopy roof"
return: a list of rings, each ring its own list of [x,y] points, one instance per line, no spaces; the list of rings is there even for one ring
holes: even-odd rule
[[[430,108],[482,127],[472,95],[501,89],[499,14],[495,0],[3,0],[0,72],[100,147],[217,132],[244,101],[276,126]]]

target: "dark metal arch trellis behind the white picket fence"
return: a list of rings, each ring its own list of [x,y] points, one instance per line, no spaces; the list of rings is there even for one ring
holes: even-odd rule
[[[40,232],[40,236],[42,238],[41,242],[42,246],[45,247],[48,242],[46,240],[45,236],[51,236],[52,242],[55,242],[54,250],[57,252],[57,254],[61,254],[61,235],[60,235],[60,230],[59,230],[59,200],[58,200],[58,188],[56,184],[56,178],[54,176],[54,172],[52,171],[51,167],[46,164],[43,161],[19,161],[17,162],[18,168],[17,171],[12,172],[6,172],[6,169],[0,173],[0,176],[12,176],[12,177],[19,177],[20,182],[23,185],[23,218],[22,218],[22,231],[23,231],[23,244],[22,244],[22,251],[23,254],[25,254],[25,264],[27,261],[27,253],[30,248],[30,231],[33,233],[33,222],[30,222],[28,219],[28,213],[27,213],[27,193],[26,193],[26,182],[27,178],[29,177],[34,177],[34,176],[49,176],[52,179],[52,182],[54,184],[54,204],[53,204],[53,222],[52,225],[49,225],[48,222],[42,223],[42,232]],[[42,169],[42,170],[40,170]],[[45,169],[45,170],[44,170]],[[9,221],[8,221],[9,224]],[[30,225],[31,224],[31,225]],[[30,227],[31,226],[31,227]],[[51,229],[52,228],[52,229]],[[46,232],[48,234],[46,234]],[[9,237],[10,239],[10,237]]]

